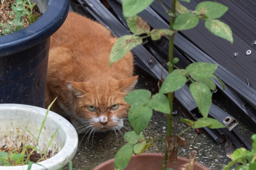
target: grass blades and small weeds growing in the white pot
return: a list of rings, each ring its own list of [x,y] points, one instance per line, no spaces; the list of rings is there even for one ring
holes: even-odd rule
[[[41,149],[40,149],[39,138],[40,138],[41,131],[44,127],[44,123],[46,121],[48,112],[49,112],[52,104],[55,102],[55,100],[56,100],[56,98],[52,101],[52,103],[47,108],[47,111],[46,111],[46,114],[44,116],[44,120],[42,121],[42,124],[41,124],[41,127],[40,127],[37,138],[32,134],[32,132],[30,130],[27,129],[27,127],[25,127],[23,124],[21,124],[27,130],[27,132],[29,132],[29,134],[34,138],[34,140],[37,142],[37,148],[35,148],[33,146],[30,146],[30,145],[25,145],[22,141],[22,137],[20,136],[19,131],[17,131],[17,133],[19,135],[19,138],[21,140],[21,143],[22,143],[22,147],[21,148],[16,148],[16,149],[10,151],[9,153],[6,153],[4,151],[0,151],[0,166],[28,165],[27,170],[30,170],[32,164],[34,164],[34,163],[37,164],[38,162],[47,159],[48,148],[51,145],[52,140],[54,139],[56,133],[58,132],[59,127],[57,128],[55,133],[52,135],[52,138],[49,141],[45,152],[41,151]],[[29,152],[28,149],[32,149],[32,151]],[[19,152],[19,151],[21,151],[21,152]],[[33,152],[36,152],[36,151],[38,151],[40,153],[41,158],[38,159],[36,162],[32,162],[32,161],[29,160],[29,158],[33,154]],[[37,164],[37,165],[40,165],[40,164]],[[69,167],[72,168],[72,162],[71,161],[69,162]],[[45,168],[45,169],[47,169],[47,168]]]

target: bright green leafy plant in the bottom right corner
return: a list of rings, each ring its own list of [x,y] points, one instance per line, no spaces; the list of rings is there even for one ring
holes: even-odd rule
[[[252,135],[252,151],[248,151],[245,148],[239,148],[231,155],[232,161],[229,165],[223,167],[223,170],[229,170],[235,163],[240,163],[235,170],[254,170],[256,169],[256,134]],[[249,162],[247,162],[247,159]]]

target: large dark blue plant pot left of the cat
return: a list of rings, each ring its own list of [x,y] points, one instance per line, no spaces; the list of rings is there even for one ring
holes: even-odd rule
[[[50,36],[66,19],[69,0],[30,0],[43,15],[0,37],[0,103],[44,105]]]

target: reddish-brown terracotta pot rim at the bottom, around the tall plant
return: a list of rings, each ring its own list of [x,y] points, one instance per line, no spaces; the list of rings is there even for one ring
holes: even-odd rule
[[[132,157],[148,157],[148,156],[154,156],[154,157],[163,157],[161,153],[141,153],[140,155],[134,155]],[[180,157],[178,156],[177,159],[180,159],[180,160],[186,160],[188,161],[189,159],[187,158],[183,158],[183,157]],[[101,163],[100,165],[96,166],[93,170],[100,170],[102,167],[104,167],[105,165],[108,165],[108,164],[111,164],[113,163],[115,160],[115,158],[113,159],[110,159],[108,161],[105,161],[103,163]],[[198,166],[198,167],[202,167],[202,168],[207,168],[206,166],[198,163],[197,161],[195,161],[195,165]]]

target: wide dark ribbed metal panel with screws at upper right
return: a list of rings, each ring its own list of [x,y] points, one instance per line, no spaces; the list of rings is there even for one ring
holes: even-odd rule
[[[170,3],[169,1],[165,3]],[[184,6],[186,6],[189,9],[194,10],[195,6],[197,5],[197,0],[193,0],[190,3],[183,3]],[[201,2],[201,1],[200,1]],[[223,2],[222,0],[218,0],[218,2]],[[226,1],[226,3],[228,3]],[[228,4],[227,4],[228,5]],[[231,8],[231,7],[230,7]],[[239,11],[237,9],[237,11]],[[237,11],[235,14],[237,14]],[[233,11],[235,12],[235,11]],[[242,12],[242,11],[241,11]],[[164,14],[165,18],[168,17],[167,14]],[[239,25],[238,21],[230,21],[232,17],[229,15],[232,15],[233,17],[236,17],[233,13],[227,12],[225,15],[222,16],[222,19],[226,19],[226,22],[228,25],[230,24],[236,24],[233,26],[236,26],[236,28],[239,28],[239,32],[245,32],[246,29],[245,26],[249,24],[248,19],[243,19],[243,24]],[[240,14],[237,14],[240,16]],[[229,16],[229,17],[228,17]],[[236,18],[238,19],[238,18]],[[225,22],[225,21],[224,21]],[[250,22],[252,24],[252,22]],[[213,34],[211,34],[207,28],[205,28],[204,23],[202,21],[199,22],[197,27],[190,30],[181,31],[185,36],[187,36],[191,41],[193,41],[197,46],[199,46],[203,51],[205,51],[208,55],[210,55],[215,61],[217,61],[219,64],[224,66],[227,70],[235,74],[240,80],[242,80],[244,83],[246,83],[245,78],[247,78],[250,82],[250,86],[254,89],[256,89],[256,67],[255,67],[255,57],[256,51],[246,43],[244,43],[243,39],[241,39],[240,34],[236,32],[236,30],[233,29],[233,26],[230,25],[233,30],[233,37],[234,37],[234,44],[231,45],[229,43],[226,43],[226,40],[223,40]],[[243,28],[244,27],[244,28]],[[255,27],[255,26],[254,26]],[[249,32],[249,26],[247,26],[247,32]],[[252,31],[252,30],[251,30]],[[254,32],[255,33],[255,32]],[[197,36],[194,36],[194,35]],[[246,55],[247,50],[251,50],[251,54],[248,56]],[[238,52],[239,56],[237,58],[233,58],[232,54],[234,52]],[[221,57],[220,57],[221,56]]]

